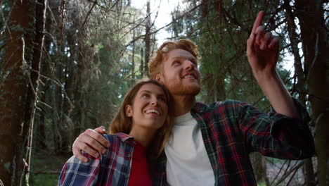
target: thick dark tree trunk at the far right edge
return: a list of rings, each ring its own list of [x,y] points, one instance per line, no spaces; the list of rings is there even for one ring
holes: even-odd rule
[[[316,128],[315,144],[318,156],[318,185],[326,183],[329,138],[329,80],[328,32],[326,30],[323,1],[295,1],[302,35],[304,69],[311,102],[312,119]]]

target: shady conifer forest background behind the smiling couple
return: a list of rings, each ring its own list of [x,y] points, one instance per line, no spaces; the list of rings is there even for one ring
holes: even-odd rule
[[[108,128],[127,89],[148,75],[164,32],[199,46],[198,101],[238,99],[269,111],[245,53],[261,10],[280,39],[278,73],[311,114],[316,154],[304,161],[251,154],[257,182],[328,185],[328,1],[181,1],[171,22],[156,27],[168,8],[159,2],[0,1],[0,185],[56,185],[75,138]]]

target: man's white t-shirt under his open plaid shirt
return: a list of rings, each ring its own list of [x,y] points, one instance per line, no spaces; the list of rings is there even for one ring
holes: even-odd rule
[[[169,185],[214,185],[214,172],[201,130],[191,113],[175,118],[172,137],[164,151]]]

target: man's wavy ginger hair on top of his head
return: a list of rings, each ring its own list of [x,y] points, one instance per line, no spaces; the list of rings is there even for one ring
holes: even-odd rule
[[[150,74],[151,79],[155,80],[156,75],[163,73],[162,61],[167,60],[167,54],[174,49],[183,49],[190,52],[195,58],[201,58],[198,46],[196,46],[190,39],[164,42],[159,49],[155,51],[155,54],[150,58],[150,61],[148,61],[148,73]]]

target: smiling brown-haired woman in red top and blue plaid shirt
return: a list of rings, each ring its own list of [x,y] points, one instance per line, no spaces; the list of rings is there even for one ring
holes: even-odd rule
[[[58,185],[152,185],[150,168],[162,153],[172,128],[169,93],[155,80],[138,82],[112,120],[107,153],[88,163],[72,156]],[[169,117],[167,117],[169,116]]]

